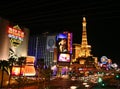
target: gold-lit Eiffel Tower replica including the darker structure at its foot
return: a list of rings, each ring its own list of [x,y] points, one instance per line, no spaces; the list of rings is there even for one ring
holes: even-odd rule
[[[96,68],[97,64],[97,57],[93,57],[91,54],[91,46],[88,45],[87,42],[87,30],[86,30],[86,18],[83,17],[83,22],[82,22],[82,42],[79,47],[79,53],[77,55],[75,64],[77,64],[77,68],[86,68],[86,69],[91,69],[91,68]]]

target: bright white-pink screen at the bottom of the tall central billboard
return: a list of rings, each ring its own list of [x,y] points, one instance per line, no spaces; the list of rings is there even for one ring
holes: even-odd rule
[[[58,62],[70,62],[70,54],[60,53],[58,55]]]

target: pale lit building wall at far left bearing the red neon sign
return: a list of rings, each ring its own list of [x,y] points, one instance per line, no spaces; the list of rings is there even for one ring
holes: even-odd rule
[[[0,18],[0,60],[8,60],[13,54],[27,56],[28,40],[29,29]]]

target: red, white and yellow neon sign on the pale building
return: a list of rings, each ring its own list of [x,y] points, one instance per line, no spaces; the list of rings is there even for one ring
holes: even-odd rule
[[[20,29],[18,25],[14,27],[8,27],[8,37],[10,38],[10,43],[17,47],[21,44],[24,38],[24,32]]]

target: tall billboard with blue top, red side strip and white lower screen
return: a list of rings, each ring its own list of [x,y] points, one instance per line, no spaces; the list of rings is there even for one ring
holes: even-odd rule
[[[60,66],[69,66],[72,55],[72,33],[63,32],[56,36],[58,50],[57,63]]]

